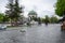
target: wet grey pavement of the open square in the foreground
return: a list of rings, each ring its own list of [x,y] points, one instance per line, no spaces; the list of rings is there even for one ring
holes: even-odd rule
[[[60,24],[22,27],[0,31],[0,43],[65,43],[65,31],[61,31]]]

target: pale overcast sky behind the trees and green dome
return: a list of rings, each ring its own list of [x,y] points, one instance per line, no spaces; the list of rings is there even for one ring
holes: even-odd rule
[[[54,5],[56,0],[20,0],[20,4],[24,5],[24,15],[27,16],[28,12],[34,10],[38,16],[54,15]],[[0,0],[0,12],[4,12],[8,0]]]

